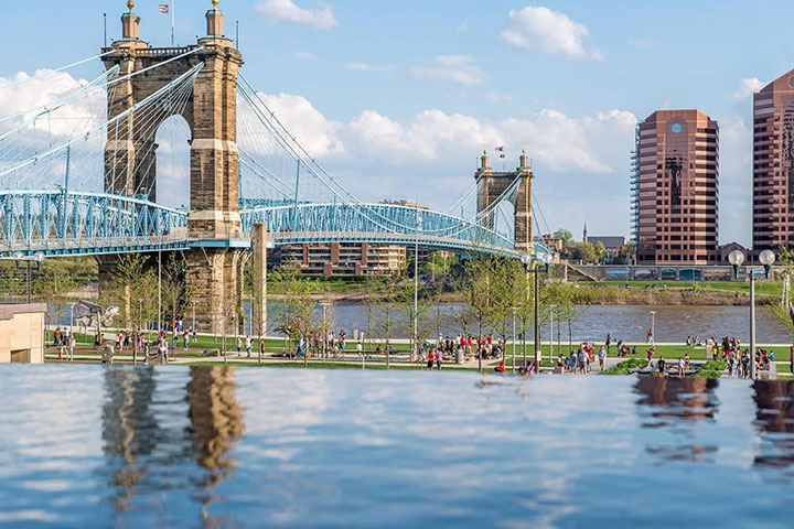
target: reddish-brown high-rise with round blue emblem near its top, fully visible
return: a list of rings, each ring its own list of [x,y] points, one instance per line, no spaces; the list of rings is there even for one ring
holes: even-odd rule
[[[719,126],[699,110],[657,110],[637,127],[632,182],[640,264],[713,264]]]

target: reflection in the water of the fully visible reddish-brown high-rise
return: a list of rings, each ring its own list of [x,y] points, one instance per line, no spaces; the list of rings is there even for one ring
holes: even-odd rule
[[[699,423],[715,421],[719,380],[637,377],[634,392],[642,428],[658,429],[645,451],[658,461],[710,462],[718,446],[705,442]]]

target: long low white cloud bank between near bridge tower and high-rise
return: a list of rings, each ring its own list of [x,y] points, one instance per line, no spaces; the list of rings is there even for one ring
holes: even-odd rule
[[[496,122],[439,109],[399,122],[365,110],[345,123],[326,119],[302,96],[264,97],[312,155],[337,161],[355,155],[391,165],[468,159],[483,148],[505,145],[515,153],[527,148],[552,171],[611,173],[627,165],[624,147],[631,147],[636,123],[625,110],[573,118],[551,109]],[[604,155],[612,151],[616,155]]]

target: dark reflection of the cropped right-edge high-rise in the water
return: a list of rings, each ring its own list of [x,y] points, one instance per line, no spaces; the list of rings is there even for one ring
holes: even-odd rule
[[[753,384],[755,424],[761,445],[754,464],[770,467],[794,465],[794,382],[758,380]]]

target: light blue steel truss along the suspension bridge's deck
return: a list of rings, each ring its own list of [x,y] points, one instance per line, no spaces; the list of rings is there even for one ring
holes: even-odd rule
[[[373,242],[515,256],[513,241],[462,218],[396,204],[309,204],[242,199],[243,241],[265,223],[273,245]],[[419,220],[419,223],[417,223]],[[389,229],[388,226],[401,226]],[[419,229],[417,229],[419,227]],[[128,196],[63,191],[0,191],[0,258],[148,252],[206,246],[191,240],[187,212]],[[242,242],[242,245],[239,244]],[[536,245],[536,251],[545,247]]]

